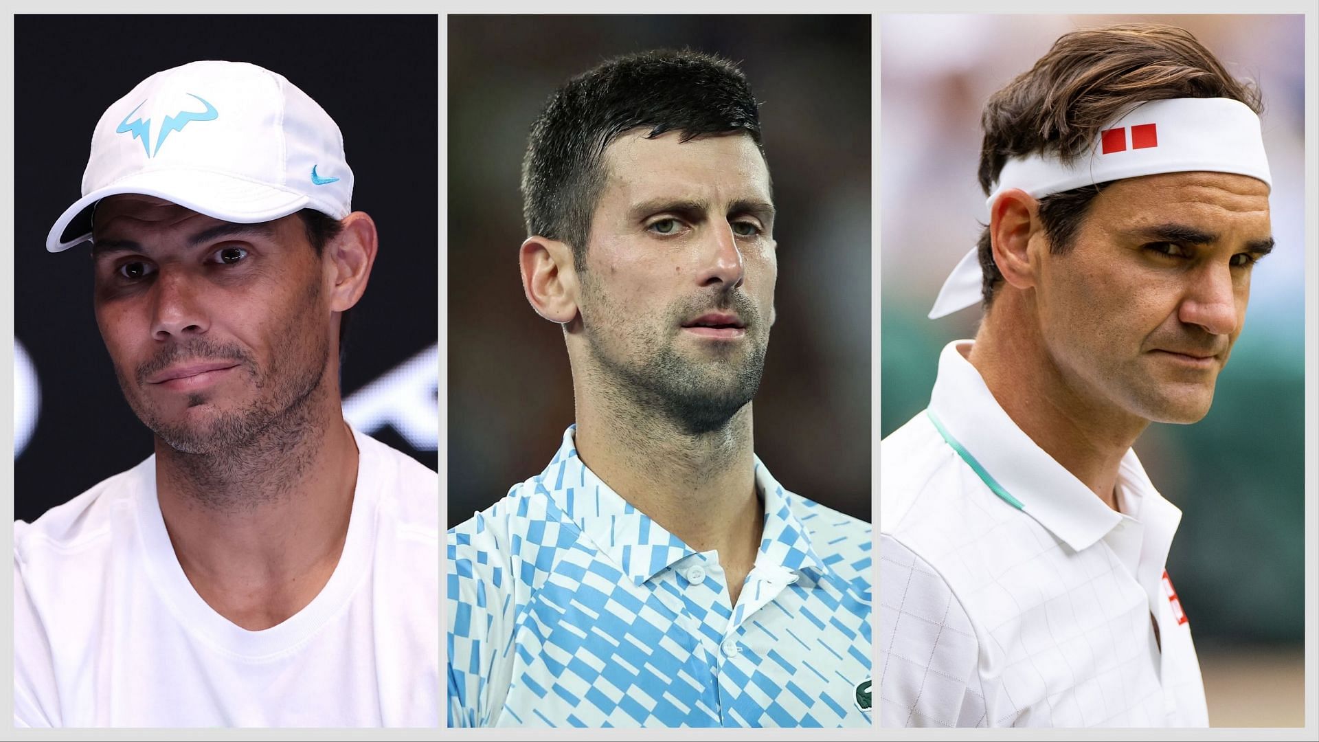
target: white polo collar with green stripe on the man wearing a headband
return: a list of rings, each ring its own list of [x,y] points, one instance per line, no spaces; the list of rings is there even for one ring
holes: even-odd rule
[[[1099,541],[1122,516],[1008,417],[959,347],[969,350],[971,341],[951,342],[939,354],[939,375],[930,395],[930,411],[948,434],[1021,503],[1024,512],[1072,549],[1080,551]],[[1158,494],[1130,449],[1119,465],[1117,487],[1124,504],[1138,504],[1138,512],[1129,515],[1161,533],[1166,531],[1167,543],[1171,543],[1171,532],[1177,529],[1182,512]],[[1163,552],[1166,556],[1166,547]]]

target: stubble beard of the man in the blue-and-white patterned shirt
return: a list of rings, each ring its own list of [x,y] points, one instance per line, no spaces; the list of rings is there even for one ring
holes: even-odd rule
[[[590,280],[583,284],[596,308],[592,316],[620,316],[615,302]],[[677,347],[681,330],[673,329],[685,318],[712,309],[737,312],[748,333],[739,343],[741,347],[733,343],[716,346],[704,359],[683,355]],[[661,321],[637,323],[615,339],[621,347],[637,349],[640,354],[629,356],[611,351],[611,343],[594,322],[586,323],[586,338],[603,376],[596,379],[596,384],[611,400],[611,407],[630,409],[637,428],[649,428],[646,421],[658,413],[679,432],[702,436],[725,428],[756,396],[768,347],[762,329],[768,330],[752,301],[731,289],[715,297],[675,302]]]

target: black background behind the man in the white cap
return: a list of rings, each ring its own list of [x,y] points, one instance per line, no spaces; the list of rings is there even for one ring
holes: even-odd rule
[[[371,283],[351,313],[344,396],[434,353],[435,16],[17,16],[13,54],[15,338],[41,387],[36,428],[16,450],[16,519],[30,522],[152,453],[96,330],[87,248],[51,255],[45,238],[80,195],[102,112],[156,71],[197,59],[253,62],[289,78],[339,124],[356,181],[352,206],[380,230]],[[435,389],[438,360],[429,358],[414,368]],[[389,424],[363,432],[435,469],[438,397],[429,397],[434,404],[414,416],[434,417],[434,433],[418,436],[414,425],[409,440]]]

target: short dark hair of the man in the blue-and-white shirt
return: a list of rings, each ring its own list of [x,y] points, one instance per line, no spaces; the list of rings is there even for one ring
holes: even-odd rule
[[[745,132],[760,149],[760,115],[747,78],[732,62],[691,50],[615,57],[554,91],[532,125],[522,161],[522,215],[528,235],[572,246],[586,268],[591,218],[604,187],[605,148],[645,127],[679,141]]]

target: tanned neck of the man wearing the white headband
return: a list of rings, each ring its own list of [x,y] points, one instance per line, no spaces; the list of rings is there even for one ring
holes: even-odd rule
[[[995,300],[967,359],[1035,445],[1119,510],[1119,465],[1149,421],[1096,403],[1068,383],[1017,298],[1005,292]]]

